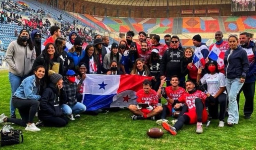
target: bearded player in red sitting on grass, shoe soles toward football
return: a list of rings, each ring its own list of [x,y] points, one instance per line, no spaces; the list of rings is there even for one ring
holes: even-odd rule
[[[177,131],[180,130],[184,124],[195,123],[197,123],[196,133],[203,133],[202,123],[206,122],[208,119],[207,110],[204,105],[207,95],[202,91],[196,90],[194,82],[190,80],[186,81],[186,90],[188,92],[183,93],[178,100],[170,99],[170,102],[173,106],[177,103],[181,103],[179,106],[187,105],[188,111],[179,117],[173,126],[162,122],[163,129],[172,135],[176,135]],[[210,96],[210,94],[208,95]]]

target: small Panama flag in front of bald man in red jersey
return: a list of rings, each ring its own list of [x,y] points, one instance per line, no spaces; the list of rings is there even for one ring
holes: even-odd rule
[[[214,44],[214,46],[212,47],[212,50],[210,51],[208,58],[210,58],[211,60],[215,60],[217,61],[219,67],[223,67],[224,66],[224,56],[225,56],[225,52],[219,50],[219,48],[216,47],[216,45]]]

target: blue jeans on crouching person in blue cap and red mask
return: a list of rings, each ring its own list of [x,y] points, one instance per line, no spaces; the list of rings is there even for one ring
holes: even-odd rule
[[[77,102],[73,106],[69,106],[67,104],[62,104],[61,106],[62,112],[64,115],[77,115],[81,112],[84,112],[86,110],[86,107],[84,104]]]

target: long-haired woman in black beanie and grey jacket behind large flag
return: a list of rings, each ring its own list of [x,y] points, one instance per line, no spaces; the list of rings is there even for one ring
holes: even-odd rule
[[[118,50],[119,46],[114,42],[111,46],[111,52],[106,54],[103,60],[103,67],[105,70],[110,71],[110,63],[112,60],[115,60],[118,64],[120,63],[122,55],[118,52]]]

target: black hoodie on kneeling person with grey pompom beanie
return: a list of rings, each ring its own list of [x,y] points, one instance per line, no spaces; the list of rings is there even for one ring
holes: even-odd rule
[[[44,89],[40,106],[38,111],[38,117],[48,118],[48,117],[60,117],[62,116],[62,110],[60,105],[67,101],[66,92],[62,89],[56,88],[53,83],[50,83],[46,89]]]

